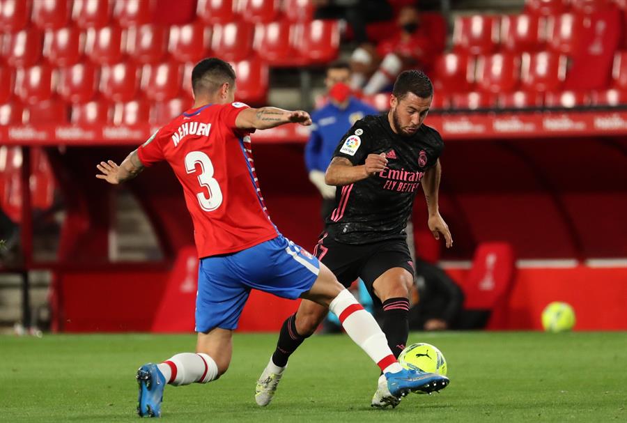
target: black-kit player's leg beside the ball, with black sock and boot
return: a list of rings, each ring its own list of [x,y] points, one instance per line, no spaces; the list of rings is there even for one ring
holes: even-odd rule
[[[373,291],[383,304],[382,330],[387,338],[389,349],[396,358],[405,348],[409,335],[409,294],[412,284],[413,276],[404,268],[386,270],[373,282]],[[387,389],[385,376],[381,375],[371,406],[394,407],[397,403],[398,399]]]

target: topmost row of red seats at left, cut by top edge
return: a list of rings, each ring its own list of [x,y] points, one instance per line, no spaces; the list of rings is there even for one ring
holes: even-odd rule
[[[81,29],[112,22],[128,28],[153,22],[151,0],[0,0],[0,31],[17,32],[33,22],[39,29],[61,29],[72,22]],[[309,0],[198,0],[196,15],[205,24],[307,22]]]

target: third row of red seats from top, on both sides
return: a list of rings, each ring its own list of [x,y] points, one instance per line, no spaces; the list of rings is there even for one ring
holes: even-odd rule
[[[435,63],[433,83],[440,93],[481,91],[485,93],[559,91],[566,77],[566,56],[550,52],[497,53],[469,56],[447,53]],[[258,58],[233,63],[238,73],[240,99],[265,100],[268,66]],[[128,102],[138,97],[163,101],[189,95],[192,63],[165,61],[139,65],[134,62],[95,66],[77,63],[54,68],[48,63],[29,68],[0,66],[0,104],[13,95],[26,105],[50,100],[55,93],[72,103],[100,97],[111,102]],[[454,87],[454,90],[451,90]],[[627,91],[627,52],[614,56],[612,86]]]

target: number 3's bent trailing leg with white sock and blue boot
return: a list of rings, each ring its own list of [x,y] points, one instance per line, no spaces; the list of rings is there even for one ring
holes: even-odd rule
[[[214,328],[198,334],[196,353],[178,353],[160,364],[144,364],[137,371],[141,417],[160,417],[165,385],[208,383],[219,378],[231,363],[232,331]]]

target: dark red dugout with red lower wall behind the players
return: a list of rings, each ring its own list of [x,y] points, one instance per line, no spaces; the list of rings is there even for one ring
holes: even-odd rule
[[[432,120],[438,125],[440,119],[430,116],[427,123]],[[426,206],[419,192],[413,216],[418,254],[443,263],[467,291],[472,289],[465,284],[470,283],[466,281],[477,247],[495,241],[511,246],[516,269],[504,298],[494,305],[500,309],[499,322],[491,328],[538,329],[541,309],[552,300],[575,307],[577,329],[627,328],[622,307],[627,298],[624,135],[550,137],[541,132],[537,137],[488,134],[482,139],[477,134],[447,137],[444,127],[440,130],[446,142],[440,208],[455,246],[445,251],[426,231]],[[254,157],[273,222],[285,236],[311,250],[322,224],[320,199],[304,169],[304,139],[302,133],[284,132],[273,138],[270,132],[254,139]],[[116,233],[120,188],[94,178],[93,169],[100,160],[123,160],[139,144],[137,140],[88,145],[66,141],[62,147],[37,144],[43,145],[11,148],[39,163],[18,169],[20,178],[31,172],[40,182],[54,181],[63,222],[53,260],[42,261],[32,250],[32,237],[38,236],[32,225],[41,215],[37,210],[42,203],[40,185],[34,186],[31,201],[22,200],[22,207],[15,211],[26,247],[24,268],[52,271],[52,328],[67,332],[193,330],[192,225],[167,164],[146,169],[125,188],[150,223],[159,252],[148,261],[124,261],[112,254],[116,236],[123,235]],[[45,175],[40,156],[49,166]],[[24,184],[17,192],[21,199],[29,198]],[[146,306],[138,307],[139,298]],[[240,330],[276,330],[296,306],[296,302],[253,293]],[[599,307],[603,314],[597,312]]]

